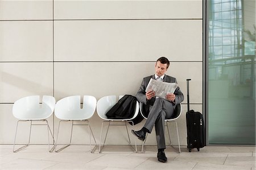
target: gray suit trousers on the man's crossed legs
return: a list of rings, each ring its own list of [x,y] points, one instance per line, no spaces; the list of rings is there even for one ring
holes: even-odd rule
[[[166,148],[166,140],[164,138],[164,119],[170,118],[174,114],[174,106],[170,101],[162,98],[156,98],[154,105],[150,107],[147,121],[144,125],[148,132],[151,133],[155,125],[156,142],[158,149]]]

